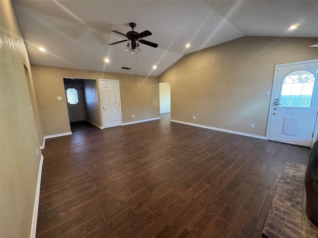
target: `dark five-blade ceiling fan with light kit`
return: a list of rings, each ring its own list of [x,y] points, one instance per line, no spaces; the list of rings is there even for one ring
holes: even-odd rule
[[[156,43],[153,43],[153,42],[150,42],[150,41],[145,41],[143,39],[140,39],[140,38],[144,38],[146,36],[151,36],[153,33],[151,33],[150,31],[146,30],[146,31],[143,31],[141,33],[138,33],[136,31],[134,31],[134,28],[136,27],[136,23],[134,22],[130,22],[129,23],[129,26],[132,28],[131,31],[127,32],[126,34],[124,33],[121,33],[119,31],[114,31],[114,30],[111,30],[112,32],[115,32],[119,35],[122,35],[122,36],[126,36],[128,38],[128,40],[123,40],[123,41],[117,41],[117,42],[114,42],[114,43],[110,43],[108,44],[109,46],[112,46],[112,45],[115,45],[115,44],[118,44],[118,43],[122,43],[122,42],[125,42],[125,41],[128,41],[128,44],[127,44],[127,48],[126,50],[127,51],[133,51],[135,52],[138,51],[139,49],[139,43],[142,43],[142,44],[145,44],[147,46],[151,46],[151,47],[154,47],[154,48],[157,48],[158,47],[158,44]],[[131,48],[129,46],[129,43],[131,44]],[[129,49],[128,49],[129,47]],[[137,48],[137,49],[136,49]],[[140,51],[140,50],[139,50]]]

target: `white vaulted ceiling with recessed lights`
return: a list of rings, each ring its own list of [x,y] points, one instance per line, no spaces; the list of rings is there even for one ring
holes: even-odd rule
[[[242,36],[318,38],[317,0],[13,2],[30,61],[42,65],[134,74],[126,42],[108,46],[126,39],[110,30],[126,34],[129,22],[137,24],[137,32],[151,31],[153,35],[143,39],[159,44],[158,48],[141,44],[137,55],[138,74],[151,76],[186,54]],[[287,29],[294,24],[299,26],[296,30]],[[191,47],[186,49],[186,43]]]

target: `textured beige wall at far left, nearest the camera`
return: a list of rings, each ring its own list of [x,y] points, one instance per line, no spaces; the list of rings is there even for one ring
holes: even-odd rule
[[[33,82],[12,2],[0,1],[0,19],[0,237],[27,238],[31,231],[41,150],[24,65],[29,72],[29,85]],[[36,98],[33,103],[35,106]]]

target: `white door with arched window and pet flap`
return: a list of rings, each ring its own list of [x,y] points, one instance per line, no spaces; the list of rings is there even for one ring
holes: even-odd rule
[[[318,60],[277,65],[268,139],[310,147],[318,112]]]

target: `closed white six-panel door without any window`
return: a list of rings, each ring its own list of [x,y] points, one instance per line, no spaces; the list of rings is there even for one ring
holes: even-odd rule
[[[121,125],[120,93],[118,80],[99,80],[103,127]]]

